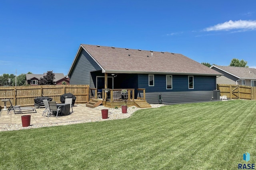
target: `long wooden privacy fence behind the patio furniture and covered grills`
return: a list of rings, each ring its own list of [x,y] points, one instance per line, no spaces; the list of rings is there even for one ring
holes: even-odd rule
[[[72,93],[77,103],[89,102],[89,85],[42,85],[42,86],[0,86],[0,100],[10,99],[12,104],[19,106],[34,106],[34,98],[49,97],[60,103],[60,96]],[[6,103],[10,106],[10,103]],[[0,107],[4,102],[0,101]]]

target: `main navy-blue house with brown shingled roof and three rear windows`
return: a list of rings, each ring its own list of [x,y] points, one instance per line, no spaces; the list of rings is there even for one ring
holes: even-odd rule
[[[222,75],[181,54],[135,49],[80,45],[68,72],[70,84],[110,89],[146,89],[146,100],[158,103],[209,101]],[[135,96],[137,97],[137,95]]]

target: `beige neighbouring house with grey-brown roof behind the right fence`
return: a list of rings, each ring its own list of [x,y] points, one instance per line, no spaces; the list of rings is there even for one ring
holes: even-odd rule
[[[256,69],[235,66],[213,65],[210,68],[223,74],[217,77],[217,84],[239,84],[256,86]]]

